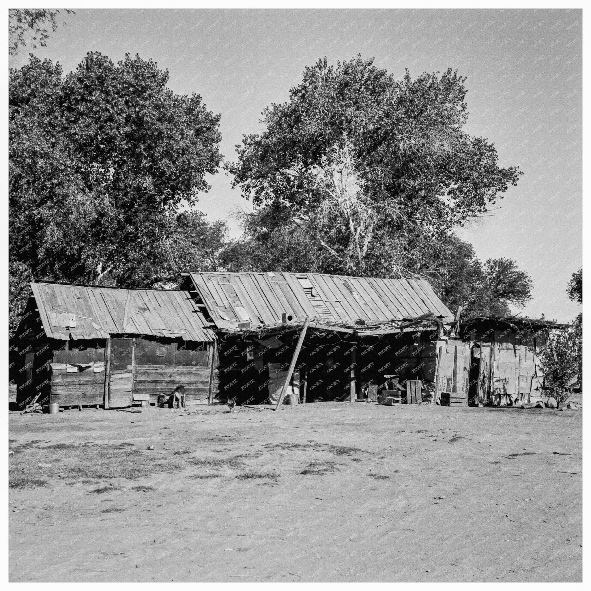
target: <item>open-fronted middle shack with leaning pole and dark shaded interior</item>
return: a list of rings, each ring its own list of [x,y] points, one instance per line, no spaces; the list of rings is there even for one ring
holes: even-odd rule
[[[427,281],[320,273],[189,273],[219,339],[219,398],[274,403],[304,322],[292,377],[302,401],[349,401],[367,384],[420,379],[433,391],[436,343],[453,315]]]

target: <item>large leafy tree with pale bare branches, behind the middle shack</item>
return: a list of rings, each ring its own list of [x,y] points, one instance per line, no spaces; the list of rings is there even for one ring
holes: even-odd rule
[[[480,263],[453,235],[521,174],[463,129],[464,83],[451,69],[397,80],[361,56],[306,67],[226,164],[255,205],[233,245],[241,264],[426,277],[465,316],[522,306],[530,278],[507,259]]]

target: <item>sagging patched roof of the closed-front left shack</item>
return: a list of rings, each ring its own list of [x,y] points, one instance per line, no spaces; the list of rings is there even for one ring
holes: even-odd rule
[[[189,291],[126,290],[31,283],[46,335],[107,339],[136,334],[212,342],[214,333]]]

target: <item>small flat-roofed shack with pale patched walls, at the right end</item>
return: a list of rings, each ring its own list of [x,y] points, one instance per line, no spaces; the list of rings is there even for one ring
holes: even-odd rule
[[[506,406],[544,398],[537,352],[550,331],[563,326],[527,317],[479,317],[462,323],[469,403]]]

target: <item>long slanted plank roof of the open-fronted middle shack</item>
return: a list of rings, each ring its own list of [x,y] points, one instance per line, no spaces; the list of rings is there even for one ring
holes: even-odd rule
[[[428,311],[452,322],[453,314],[424,280],[344,277],[320,273],[190,273],[216,326],[268,325],[316,319],[322,324],[355,320],[388,322]]]

